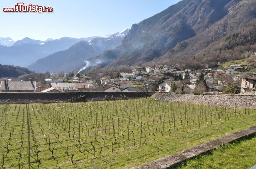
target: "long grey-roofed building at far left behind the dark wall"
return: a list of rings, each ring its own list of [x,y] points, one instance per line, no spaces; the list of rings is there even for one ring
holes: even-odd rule
[[[1,81],[0,92],[36,92],[36,82],[30,81]]]

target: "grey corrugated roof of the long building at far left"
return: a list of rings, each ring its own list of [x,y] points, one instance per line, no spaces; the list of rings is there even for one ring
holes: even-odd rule
[[[5,81],[1,81],[1,91],[33,91],[36,90],[36,82],[31,83],[30,81],[8,81],[5,85]]]

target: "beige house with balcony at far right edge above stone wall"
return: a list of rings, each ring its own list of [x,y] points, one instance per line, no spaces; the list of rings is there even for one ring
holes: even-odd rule
[[[241,94],[256,95],[256,77],[242,77],[241,78]]]

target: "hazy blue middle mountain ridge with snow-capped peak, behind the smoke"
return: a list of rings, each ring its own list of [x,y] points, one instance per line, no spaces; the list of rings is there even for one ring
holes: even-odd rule
[[[106,38],[96,37],[91,40],[80,41],[64,51],[55,52],[39,59],[27,68],[36,72],[73,71],[85,64],[86,60],[121,45],[128,32],[129,29],[126,28]]]

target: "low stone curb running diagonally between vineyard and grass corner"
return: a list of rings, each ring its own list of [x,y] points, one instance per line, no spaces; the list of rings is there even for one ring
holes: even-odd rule
[[[199,156],[203,153],[206,153],[210,150],[214,150],[218,146],[223,146],[227,143],[234,142],[236,140],[240,140],[249,136],[252,136],[256,134],[256,126],[247,128],[245,130],[242,130],[240,132],[236,132],[233,134],[226,135],[222,138],[206,142],[204,144],[201,144],[199,146],[195,146],[192,148],[189,148],[187,150],[183,150],[180,152],[177,152],[175,154],[162,157],[159,159],[154,160],[153,162],[146,163],[140,167],[137,168],[131,168],[131,169],[168,169],[168,168],[174,168],[180,165],[182,162],[187,161],[190,158]]]

